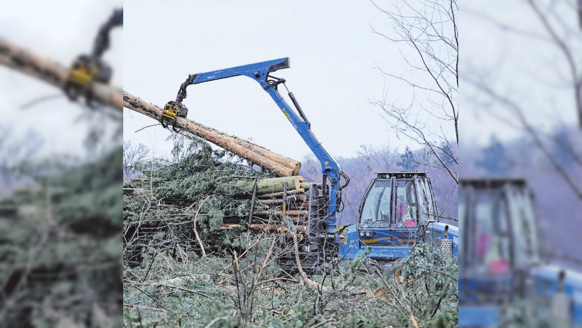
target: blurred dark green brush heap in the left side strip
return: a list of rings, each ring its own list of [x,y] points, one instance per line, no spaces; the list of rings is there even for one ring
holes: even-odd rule
[[[1,327],[123,325],[122,163],[118,147],[79,166],[22,165],[36,186],[0,200],[17,209],[0,213]]]

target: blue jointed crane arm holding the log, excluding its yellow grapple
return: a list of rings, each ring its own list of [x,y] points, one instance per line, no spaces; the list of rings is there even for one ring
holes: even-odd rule
[[[182,86],[180,86],[178,96],[176,96],[176,101],[178,103],[182,103],[182,100],[186,98],[186,87],[190,84],[210,82],[239,75],[248,76],[251,77],[251,79],[257,81],[261,85],[262,89],[267,91],[269,96],[273,98],[283,115],[285,115],[285,117],[289,120],[293,128],[295,128],[297,133],[299,133],[301,138],[303,138],[304,142],[311,149],[311,151],[313,151],[315,157],[317,157],[321,163],[321,170],[324,177],[322,192],[329,197],[327,208],[328,216],[325,218],[325,223],[327,223],[327,231],[333,234],[336,232],[336,213],[338,211],[339,203],[341,202],[342,197],[340,177],[346,176],[343,174],[342,168],[339,166],[339,164],[324,149],[313,132],[311,132],[311,123],[307,120],[306,115],[304,114],[303,110],[301,110],[301,107],[297,103],[293,93],[289,93],[289,97],[291,98],[299,114],[294,111],[285,101],[285,99],[281,97],[281,94],[279,94],[277,87],[279,84],[285,83],[285,79],[278,79],[276,77],[270,76],[269,73],[285,68],[289,68],[289,57],[189,75],[188,79],[186,79],[186,81],[182,83]],[[327,181],[329,181],[329,189],[326,188]]]

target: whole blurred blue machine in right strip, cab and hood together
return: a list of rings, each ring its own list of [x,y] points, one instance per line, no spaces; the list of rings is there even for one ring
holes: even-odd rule
[[[582,325],[582,274],[548,263],[526,181],[459,182],[459,327],[497,327],[519,299],[552,327]]]

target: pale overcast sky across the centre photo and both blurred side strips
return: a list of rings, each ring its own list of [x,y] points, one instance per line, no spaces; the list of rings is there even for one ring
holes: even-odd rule
[[[121,3],[63,0],[55,6],[52,2],[10,2],[0,10],[0,37],[68,66],[77,55],[90,51],[98,27]],[[315,135],[334,156],[353,156],[361,144],[399,149],[414,146],[398,139],[377,110],[367,105],[369,98],[382,96],[385,83],[375,62],[393,73],[408,69],[399,52],[406,54],[406,47],[399,49],[371,33],[370,24],[384,31],[390,27],[370,2],[260,1],[224,6],[201,1],[128,0],[123,5],[125,26],[112,30],[111,49],[104,56],[114,68],[114,86],[163,106],[175,98],[188,74],[290,57],[291,68],[276,76],[288,80]],[[550,128],[557,122],[576,122],[570,110],[573,91],[563,82],[565,61],[546,41],[548,34],[531,8],[517,0],[497,1],[495,6],[484,2],[460,5],[461,72],[482,76],[503,94],[519,100],[535,124]],[[576,19],[571,10],[560,10],[564,22]],[[492,19],[542,37],[508,33]],[[580,34],[570,34],[570,40],[580,45]],[[577,52],[578,62],[580,54],[582,50]],[[392,96],[410,94],[410,89],[393,80],[388,86]],[[20,131],[43,122],[40,132],[52,150],[82,148],[79,136],[87,125],[95,124],[79,120],[90,114],[87,110],[65,97],[24,112],[13,110],[59,91],[1,66],[0,87],[2,122],[15,122],[26,113],[34,119],[20,120]],[[520,129],[512,128],[503,108],[475,101],[478,92],[463,79],[461,89],[462,147],[463,142],[488,143],[491,133],[502,140],[521,135]],[[310,153],[271,98],[247,77],[190,86],[188,94],[184,103],[194,121],[298,160]],[[491,112],[495,115],[489,115]],[[155,126],[135,133],[155,122],[127,109],[124,119],[125,139],[154,147],[158,155],[167,154],[169,131]]]

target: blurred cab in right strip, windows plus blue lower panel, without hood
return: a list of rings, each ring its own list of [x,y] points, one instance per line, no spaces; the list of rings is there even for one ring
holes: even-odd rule
[[[459,182],[459,303],[499,304],[523,292],[516,274],[540,263],[533,196],[523,179]]]

